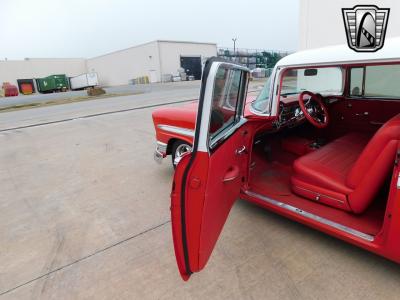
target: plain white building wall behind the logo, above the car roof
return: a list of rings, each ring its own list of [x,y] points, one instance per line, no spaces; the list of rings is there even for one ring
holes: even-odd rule
[[[355,5],[376,5],[390,8],[386,37],[400,36],[400,1],[398,0],[300,0],[299,50],[346,44],[342,8]]]

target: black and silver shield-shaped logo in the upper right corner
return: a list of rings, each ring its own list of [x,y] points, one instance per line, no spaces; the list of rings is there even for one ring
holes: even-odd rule
[[[375,52],[383,47],[389,8],[356,5],[342,8],[347,44],[357,52]]]

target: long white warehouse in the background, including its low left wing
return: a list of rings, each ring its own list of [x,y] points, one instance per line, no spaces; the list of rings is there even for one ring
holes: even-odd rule
[[[197,80],[201,78],[205,60],[216,55],[215,43],[157,40],[89,59],[3,60],[0,61],[0,86],[2,82],[16,85],[17,79],[52,74],[73,77],[88,72],[97,72],[99,84],[103,86],[126,85],[138,77],[161,82],[168,81],[179,68]]]

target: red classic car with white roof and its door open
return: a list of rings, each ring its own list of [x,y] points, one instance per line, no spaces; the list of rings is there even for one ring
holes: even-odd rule
[[[400,263],[398,49],[289,55],[247,104],[249,71],[210,59],[198,103],[154,112],[156,157],[187,145],[171,193],[184,280],[239,198]]]

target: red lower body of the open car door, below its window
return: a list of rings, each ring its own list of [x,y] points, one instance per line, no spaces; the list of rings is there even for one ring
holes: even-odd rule
[[[178,164],[174,186],[171,194],[171,214],[173,223],[173,238],[175,254],[179,270],[184,279],[190,274],[186,271],[186,264],[191,272],[198,272],[204,268],[221,230],[228,217],[232,205],[240,193],[241,183],[245,181],[248,155],[243,147],[248,148],[250,143],[246,125],[236,131],[224,144],[210,155],[198,152],[196,159],[187,173],[187,188],[182,190],[181,178],[185,174],[192,154],[185,156]],[[182,241],[182,203],[181,195],[185,193],[184,203],[186,223],[186,241]],[[188,259],[182,243],[188,248]]]

